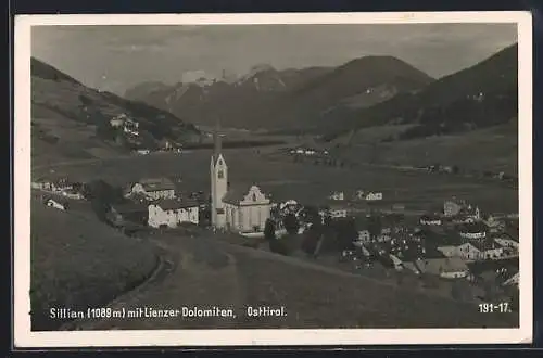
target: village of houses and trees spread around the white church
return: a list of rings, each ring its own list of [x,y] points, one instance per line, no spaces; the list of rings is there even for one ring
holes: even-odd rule
[[[275,200],[257,184],[228,180],[216,135],[210,192],[176,178],[142,178],[115,188],[104,181],[71,182],[45,176],[33,189],[52,209],[90,202],[99,218],[127,235],[169,230],[210,234],[255,250],[332,265],[359,274],[454,299],[518,306],[518,214],[483,213],[477,203],[443,199],[440,207],[413,210],[378,190],[333,191],[319,205]],[[314,155],[314,153],[310,153]],[[328,153],[323,153],[328,155]],[[70,203],[70,204],[68,204]]]

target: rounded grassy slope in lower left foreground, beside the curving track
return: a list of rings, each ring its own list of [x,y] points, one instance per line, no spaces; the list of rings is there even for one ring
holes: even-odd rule
[[[79,207],[80,206],[80,207]],[[154,270],[153,246],[128,239],[96,219],[84,204],[61,212],[31,203],[31,327],[58,329],[49,308],[100,307],[140,284]]]

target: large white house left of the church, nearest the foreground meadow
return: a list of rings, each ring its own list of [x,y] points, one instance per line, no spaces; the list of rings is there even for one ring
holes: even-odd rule
[[[148,225],[176,228],[181,222],[199,222],[200,205],[193,200],[162,199],[148,206]]]

